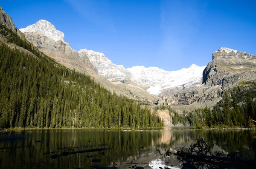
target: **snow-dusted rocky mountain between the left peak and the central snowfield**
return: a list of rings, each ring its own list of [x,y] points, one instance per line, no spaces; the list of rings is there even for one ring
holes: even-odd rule
[[[92,50],[81,49],[79,51],[80,56],[86,56],[89,58],[90,63],[98,69],[98,73],[112,82],[130,83],[131,73],[125,70],[124,66],[116,65],[105,57],[103,53],[94,52]]]

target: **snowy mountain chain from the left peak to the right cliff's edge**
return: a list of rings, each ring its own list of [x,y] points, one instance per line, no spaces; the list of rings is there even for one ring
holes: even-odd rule
[[[80,51],[72,49],[70,44],[64,41],[64,33],[58,31],[47,20],[39,20],[20,30],[25,34],[26,39],[36,47],[66,66],[77,65],[76,69],[81,72],[84,65],[90,68],[95,67],[98,74],[109,81],[136,84],[153,95],[160,95],[164,89],[172,87],[184,89],[201,85],[201,74],[205,66],[192,64],[188,69],[183,68],[172,72],[144,66],[125,69],[122,65],[112,63],[103,53],[87,49]],[[73,60],[67,60],[64,55],[59,53],[65,54],[69,58],[73,57]]]

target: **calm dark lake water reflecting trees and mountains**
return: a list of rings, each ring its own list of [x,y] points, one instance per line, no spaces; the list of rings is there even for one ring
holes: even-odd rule
[[[180,168],[177,157],[166,157],[166,150],[189,147],[195,139],[217,143],[213,151],[242,153],[244,158],[256,157],[256,130],[168,130],[129,131],[51,129],[14,130],[0,135],[0,169],[90,169],[90,166],[116,166],[129,169]],[[36,142],[37,140],[48,140]],[[79,151],[110,148],[99,152]],[[58,157],[62,152],[74,152]],[[52,159],[51,156],[58,157]],[[100,159],[93,162],[92,159]]]

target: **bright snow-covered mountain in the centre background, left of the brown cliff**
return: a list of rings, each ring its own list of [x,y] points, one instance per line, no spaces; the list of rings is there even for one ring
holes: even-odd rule
[[[147,88],[149,93],[160,95],[164,89],[200,86],[204,68],[205,66],[192,64],[187,69],[183,68],[172,72],[157,67],[145,68],[144,66],[134,66],[127,70],[131,72],[131,80],[139,86]]]

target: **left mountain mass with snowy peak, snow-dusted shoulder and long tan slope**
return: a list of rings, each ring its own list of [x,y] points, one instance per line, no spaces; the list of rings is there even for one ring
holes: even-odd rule
[[[23,32],[26,39],[36,46],[41,52],[47,54],[58,63],[70,69],[90,74],[96,81],[102,83],[102,85],[107,89],[130,98],[146,100],[154,103],[157,101],[158,98],[156,96],[149,94],[138,86],[134,86],[133,83],[119,83],[120,81],[126,83],[129,82],[129,78],[125,79],[125,76],[122,75],[127,72],[120,69],[122,66],[117,66],[111,63],[104,54],[87,49],[80,51],[72,49],[70,44],[64,41],[64,33],[57,30],[49,21],[39,20],[35,24],[20,29],[20,31]],[[93,58],[100,58],[99,60],[104,62],[95,63],[93,62]],[[92,62],[90,62],[90,60],[92,60]],[[108,68],[108,70],[104,71],[103,69],[100,69],[102,67]],[[107,72],[110,73],[108,74]],[[106,74],[106,76],[104,77],[100,74]],[[114,83],[106,80],[106,77],[112,78]]]

